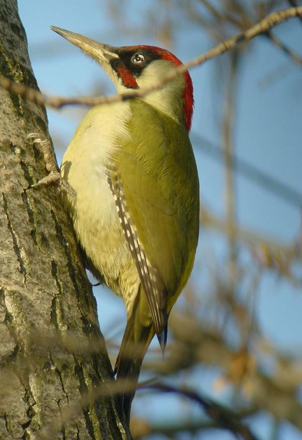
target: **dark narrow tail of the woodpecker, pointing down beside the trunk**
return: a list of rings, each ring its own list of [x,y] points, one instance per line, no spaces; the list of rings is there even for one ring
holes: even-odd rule
[[[143,319],[141,291],[134,301],[132,313],[127,321],[114,372],[118,380],[128,380],[131,391],[121,393],[119,408],[121,416],[130,419],[131,403],[136,391],[141,363],[147,348],[155,335],[155,327],[150,319]],[[143,325],[143,324],[146,325]]]

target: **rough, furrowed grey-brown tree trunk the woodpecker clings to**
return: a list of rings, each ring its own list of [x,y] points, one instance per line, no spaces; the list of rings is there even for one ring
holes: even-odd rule
[[[17,0],[0,0],[0,70],[37,87]],[[104,343],[89,344],[103,339],[61,198],[53,187],[31,188],[47,171],[26,136],[48,136],[45,109],[5,90],[0,107],[0,438],[37,439],[113,374]],[[70,335],[73,349],[62,343]],[[130,438],[112,397],[68,418],[51,438]]]

